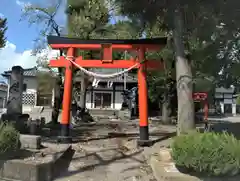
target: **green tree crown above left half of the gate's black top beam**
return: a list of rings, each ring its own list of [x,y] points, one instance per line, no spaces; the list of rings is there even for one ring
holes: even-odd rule
[[[100,38],[109,22],[104,0],[68,0],[68,36],[82,39]]]

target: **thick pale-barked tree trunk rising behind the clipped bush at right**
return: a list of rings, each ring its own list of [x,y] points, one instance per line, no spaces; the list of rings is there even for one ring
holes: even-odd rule
[[[175,10],[173,27],[178,94],[178,134],[195,129],[194,104],[192,98],[192,71],[191,65],[185,57],[183,26],[183,14],[180,8],[178,8]]]

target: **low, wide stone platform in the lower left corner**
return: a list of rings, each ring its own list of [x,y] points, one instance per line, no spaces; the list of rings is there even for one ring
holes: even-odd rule
[[[56,162],[71,149],[70,145],[61,148],[46,148],[44,154],[35,152],[32,156],[11,160],[0,160],[0,178],[18,181],[52,181]],[[30,154],[31,155],[31,154]]]

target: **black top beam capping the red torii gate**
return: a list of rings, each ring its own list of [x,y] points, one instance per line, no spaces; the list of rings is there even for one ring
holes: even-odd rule
[[[167,37],[148,39],[90,39],[48,36],[48,44],[131,44],[131,45],[166,45]]]

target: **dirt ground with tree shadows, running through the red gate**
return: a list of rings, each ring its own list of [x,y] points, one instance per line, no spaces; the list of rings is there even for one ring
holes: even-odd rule
[[[75,131],[82,134],[77,138],[79,142],[72,145],[72,161],[63,163],[55,181],[155,181],[146,156],[157,151],[159,143],[166,143],[162,140],[173,136],[175,127],[162,126],[157,121],[150,123],[151,139],[161,141],[155,148],[136,146],[137,120],[100,120]],[[111,132],[126,135],[109,137]]]

